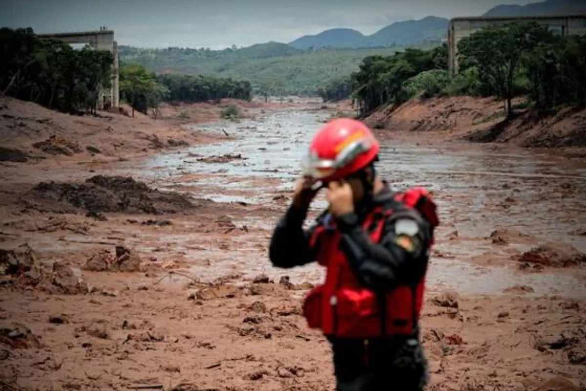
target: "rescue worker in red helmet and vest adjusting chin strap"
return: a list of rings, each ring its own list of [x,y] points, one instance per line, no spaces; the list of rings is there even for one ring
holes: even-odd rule
[[[375,169],[379,151],[362,122],[326,123],[269,246],[275,267],[326,267],[303,314],[331,344],[338,391],[415,391],[428,382],[418,318],[437,207],[423,188],[391,191]],[[304,230],[321,189],[329,207]]]

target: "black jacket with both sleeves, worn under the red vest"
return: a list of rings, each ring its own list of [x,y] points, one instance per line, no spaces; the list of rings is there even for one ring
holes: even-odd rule
[[[385,222],[380,243],[373,243],[362,228],[363,219],[375,206],[389,203],[394,212]],[[322,213],[311,228],[304,230],[306,215],[306,210],[291,205],[277,223],[269,247],[273,266],[292,268],[315,261],[319,243],[311,248],[309,238],[328,213]],[[420,280],[427,270],[430,226],[415,210],[395,202],[387,183],[362,210],[336,219],[336,226],[342,233],[340,249],[359,281],[368,288],[389,291],[398,283]],[[410,246],[404,245],[406,240]]]

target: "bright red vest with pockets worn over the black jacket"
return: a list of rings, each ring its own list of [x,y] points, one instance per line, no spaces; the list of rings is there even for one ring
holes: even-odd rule
[[[432,227],[438,225],[435,204],[424,189],[410,189],[394,199],[418,209]],[[392,209],[378,206],[364,219],[363,229],[370,232],[374,243],[380,242],[385,220],[392,213]],[[377,297],[358,282],[345,254],[339,250],[340,233],[335,227],[316,227],[310,246],[318,240],[317,261],[327,268],[326,280],[305,298],[303,312],[308,327],[342,338],[412,334],[423,304],[425,276],[414,285],[398,285],[384,297]]]

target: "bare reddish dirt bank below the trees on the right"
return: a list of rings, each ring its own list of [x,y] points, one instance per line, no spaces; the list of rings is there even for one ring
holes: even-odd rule
[[[525,98],[513,100],[521,107]],[[494,98],[417,98],[401,106],[376,110],[366,119],[374,128],[400,131],[440,131],[473,142],[511,142],[522,147],[586,147],[586,109],[564,108],[544,117],[517,108],[505,118],[502,101]]]

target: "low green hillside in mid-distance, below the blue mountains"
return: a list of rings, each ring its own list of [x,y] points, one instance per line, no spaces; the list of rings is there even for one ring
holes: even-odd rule
[[[275,42],[224,50],[118,47],[123,62],[139,63],[156,73],[250,80],[254,87],[272,94],[316,94],[328,81],[349,76],[364,57],[391,55],[398,49],[401,47],[301,50]]]

